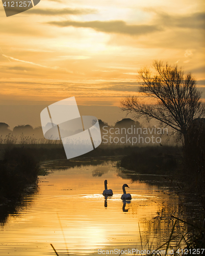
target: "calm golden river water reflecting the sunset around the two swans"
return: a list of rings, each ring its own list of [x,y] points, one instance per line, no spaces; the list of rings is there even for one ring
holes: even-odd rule
[[[143,248],[148,249],[147,240],[155,248],[166,241],[174,222],[170,215],[180,216],[181,210],[166,187],[132,181],[132,173],[127,176],[115,167],[116,159],[70,163],[42,165],[49,174],[39,177],[37,192],[26,196],[0,228],[1,255],[55,255],[50,243],[59,255],[67,255],[67,250],[72,255],[141,250],[140,232]],[[114,193],[107,200],[102,196],[105,179]],[[130,186],[126,191],[131,201],[120,199],[124,183]]]

